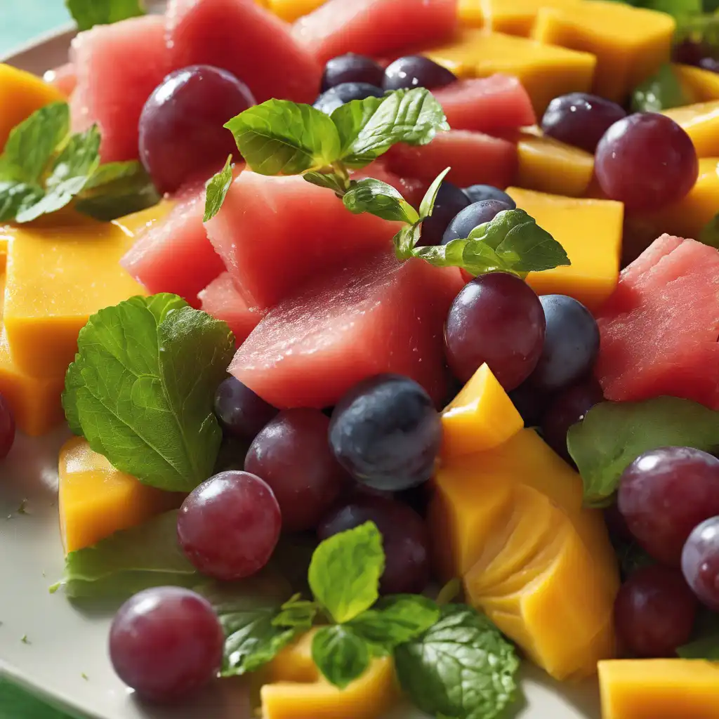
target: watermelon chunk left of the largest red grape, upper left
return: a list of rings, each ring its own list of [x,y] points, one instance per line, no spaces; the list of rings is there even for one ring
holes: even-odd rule
[[[97,25],[73,40],[77,86],[70,103],[73,129],[97,123],[103,162],[137,159],[137,124],[150,93],[173,66],[162,17]]]

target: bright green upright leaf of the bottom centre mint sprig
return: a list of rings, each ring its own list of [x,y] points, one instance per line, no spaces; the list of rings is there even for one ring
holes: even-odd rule
[[[382,536],[374,523],[365,522],[319,544],[308,580],[316,600],[341,624],[377,601],[384,571]]]

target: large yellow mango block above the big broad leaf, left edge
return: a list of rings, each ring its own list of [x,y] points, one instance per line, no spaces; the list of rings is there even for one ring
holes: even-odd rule
[[[101,222],[14,229],[4,323],[17,367],[36,377],[61,375],[91,314],[146,294],[119,264],[132,242]]]

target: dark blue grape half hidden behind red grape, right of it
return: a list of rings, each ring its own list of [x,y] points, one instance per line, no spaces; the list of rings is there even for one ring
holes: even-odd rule
[[[599,328],[582,303],[566,295],[539,298],[546,332],[539,362],[529,383],[544,392],[557,392],[586,377],[599,354]]]

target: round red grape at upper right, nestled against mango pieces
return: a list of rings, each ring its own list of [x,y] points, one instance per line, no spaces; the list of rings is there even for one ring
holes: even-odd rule
[[[687,195],[699,175],[699,160],[689,135],[674,120],[638,112],[607,130],[597,146],[595,173],[605,194],[628,211],[652,211]]]

